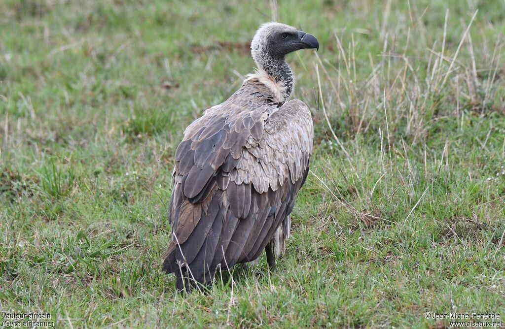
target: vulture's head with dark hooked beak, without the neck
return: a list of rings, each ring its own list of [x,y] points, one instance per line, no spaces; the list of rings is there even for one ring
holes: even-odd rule
[[[284,59],[290,52],[307,48],[319,49],[314,35],[276,22],[260,26],[251,42],[252,58],[262,68],[266,62]]]

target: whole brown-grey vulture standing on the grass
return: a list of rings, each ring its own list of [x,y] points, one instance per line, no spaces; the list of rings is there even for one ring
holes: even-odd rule
[[[314,127],[293,93],[286,54],[316,48],[312,34],[276,22],[251,42],[255,74],[184,131],[175,152],[171,242],[163,270],[179,291],[212,283],[217,268],[284,252],[290,213],[309,171]]]

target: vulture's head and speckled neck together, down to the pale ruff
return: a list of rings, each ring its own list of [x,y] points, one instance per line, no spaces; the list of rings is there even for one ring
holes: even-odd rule
[[[251,54],[260,72],[282,86],[279,99],[286,101],[293,92],[294,76],[284,57],[299,49],[319,49],[319,42],[312,34],[298,31],[292,26],[265,23],[251,42]]]

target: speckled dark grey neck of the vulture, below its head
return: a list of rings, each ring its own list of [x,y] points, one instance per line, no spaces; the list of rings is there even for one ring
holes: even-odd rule
[[[274,58],[267,56],[256,64],[261,70],[275,79],[275,84],[279,88],[280,101],[285,102],[291,96],[294,89],[293,71],[291,71],[286,59],[284,57]]]

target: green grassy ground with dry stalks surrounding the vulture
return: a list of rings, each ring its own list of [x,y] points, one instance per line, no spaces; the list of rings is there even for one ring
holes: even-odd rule
[[[444,327],[505,317],[505,2],[0,2],[0,310],[58,327]],[[476,14],[474,16],[474,14]],[[177,296],[182,131],[272,18],[316,126],[278,271]],[[3,319],[0,319],[3,321]],[[503,321],[505,322],[505,321]]]

